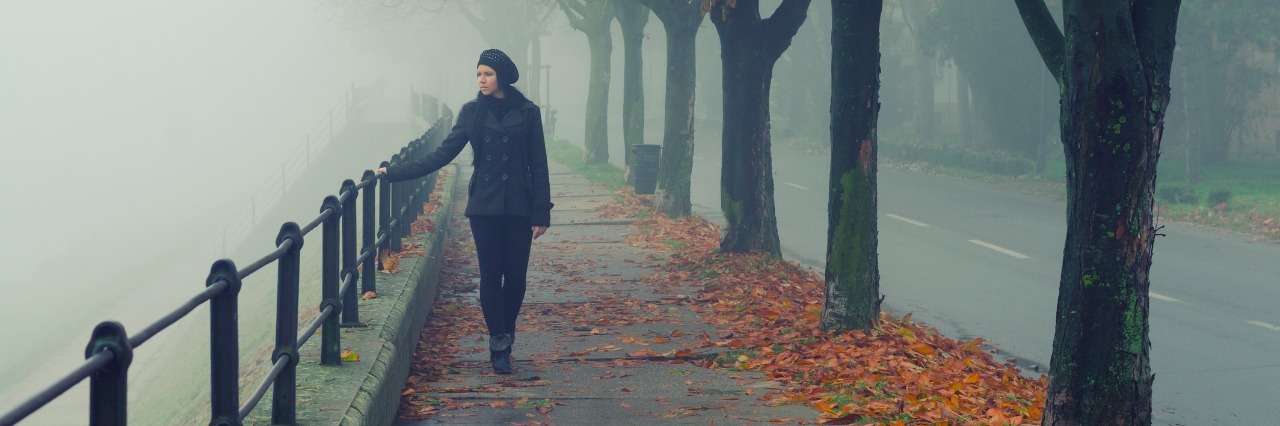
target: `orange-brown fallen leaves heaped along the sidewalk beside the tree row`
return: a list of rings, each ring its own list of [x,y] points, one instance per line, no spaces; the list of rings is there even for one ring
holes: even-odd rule
[[[701,219],[673,220],[613,210],[632,217],[634,244],[673,249],[657,281],[701,285],[695,310],[722,331],[704,345],[704,367],[762,371],[786,386],[774,403],[806,403],[828,423],[1038,423],[1044,376],[1021,376],[1000,363],[982,340],[956,342],[882,315],[870,333],[823,331],[823,280],[808,269],[758,255],[717,253],[718,229]],[[628,211],[630,210],[630,211]]]

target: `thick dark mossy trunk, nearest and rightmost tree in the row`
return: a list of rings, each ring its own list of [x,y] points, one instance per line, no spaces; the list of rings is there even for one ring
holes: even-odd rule
[[[1068,230],[1044,425],[1151,425],[1148,290],[1179,0],[1019,13],[1061,87]]]

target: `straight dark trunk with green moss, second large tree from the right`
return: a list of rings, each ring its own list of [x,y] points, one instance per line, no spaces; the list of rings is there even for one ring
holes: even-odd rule
[[[823,330],[870,330],[879,319],[876,129],[882,6],[882,0],[831,3],[831,74],[835,78],[831,84]]]

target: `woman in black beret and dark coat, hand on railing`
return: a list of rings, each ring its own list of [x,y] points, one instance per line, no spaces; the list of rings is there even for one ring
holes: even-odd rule
[[[497,49],[480,54],[480,93],[462,105],[440,147],[419,161],[378,169],[390,182],[439,170],[471,142],[475,155],[467,185],[466,216],[480,264],[480,310],[489,327],[489,361],[497,374],[511,374],[516,316],[525,301],[525,275],[532,241],[550,226],[550,183],[541,113],[511,84],[516,64]]]

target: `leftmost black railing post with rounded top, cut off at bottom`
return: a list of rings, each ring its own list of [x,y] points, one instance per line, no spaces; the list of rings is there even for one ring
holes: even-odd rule
[[[102,321],[93,327],[93,336],[84,348],[84,358],[99,352],[115,354],[111,363],[90,376],[88,423],[128,425],[129,363],[133,347],[124,334],[124,326],[115,321]]]

